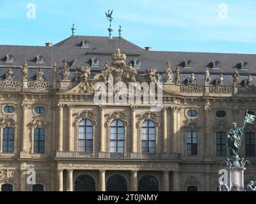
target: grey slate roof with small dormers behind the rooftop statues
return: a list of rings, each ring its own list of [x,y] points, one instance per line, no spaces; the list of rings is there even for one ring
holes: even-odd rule
[[[88,41],[88,48],[81,48],[81,42],[84,40]],[[248,69],[239,69],[239,73],[242,76],[245,77],[249,73],[256,75],[255,54],[146,51],[124,38],[113,38],[113,40],[109,40],[108,37],[100,36],[72,36],[60,41],[60,43],[56,43],[52,47],[0,45],[0,77],[4,75],[6,68],[13,67],[16,78],[19,79],[19,69],[22,64],[24,64],[25,60],[28,62],[28,66],[31,69],[29,75],[35,75],[36,73],[36,69],[32,71],[32,68],[42,67],[47,80],[49,80],[52,75],[50,66],[56,62],[57,65],[61,67],[63,59],[67,59],[71,70],[75,71],[76,66],[87,66],[90,64],[90,59],[97,57],[100,66],[98,68],[92,68],[92,71],[99,72],[102,70],[106,61],[112,61],[112,54],[116,53],[117,48],[120,48],[121,52],[127,55],[127,64],[132,62],[135,58],[140,60],[141,68],[138,69],[138,71],[141,73],[147,68],[157,68],[159,72],[163,73],[166,69],[166,62],[170,61],[173,71],[176,66],[179,66],[184,74],[196,73],[198,77],[201,76],[201,79],[198,80],[199,82],[203,80],[202,76],[205,67],[209,66],[212,61],[220,61],[220,69],[212,69],[209,67],[212,80],[216,78],[213,76],[214,74],[216,76],[220,75],[220,73],[232,75],[234,68],[239,62],[248,63]],[[13,63],[6,62],[7,54],[13,55]],[[36,63],[36,55],[42,55],[42,57],[44,57],[44,64]],[[191,61],[191,68],[183,67],[182,63],[186,60]]]

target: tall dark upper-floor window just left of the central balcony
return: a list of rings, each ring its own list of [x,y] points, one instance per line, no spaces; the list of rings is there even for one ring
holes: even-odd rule
[[[45,130],[42,128],[34,129],[34,153],[44,153]]]

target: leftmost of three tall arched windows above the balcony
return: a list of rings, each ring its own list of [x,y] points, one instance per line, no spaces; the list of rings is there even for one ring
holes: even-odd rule
[[[92,121],[83,119],[79,123],[79,152],[92,152],[93,126]]]

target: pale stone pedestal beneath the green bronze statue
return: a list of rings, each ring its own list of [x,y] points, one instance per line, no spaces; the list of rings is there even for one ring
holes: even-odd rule
[[[228,171],[228,186],[230,191],[244,191],[244,166],[225,168]]]

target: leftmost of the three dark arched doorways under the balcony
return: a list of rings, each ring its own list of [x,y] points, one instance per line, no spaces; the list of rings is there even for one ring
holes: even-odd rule
[[[75,191],[95,191],[95,181],[90,175],[81,175],[75,181]]]

